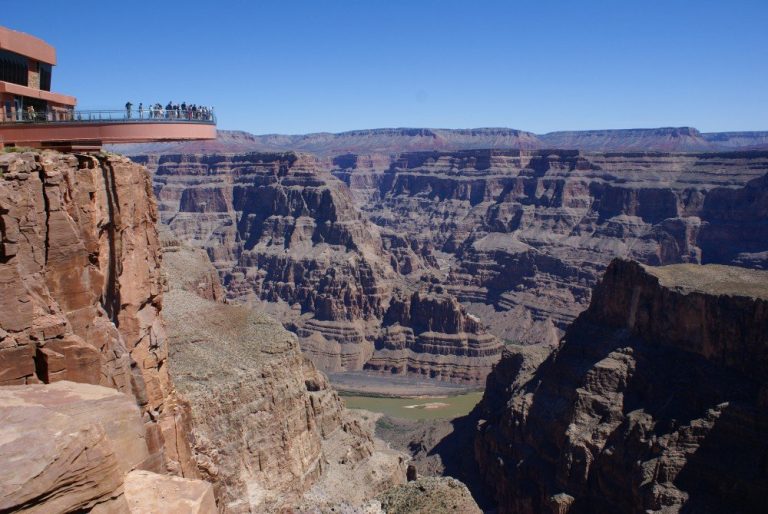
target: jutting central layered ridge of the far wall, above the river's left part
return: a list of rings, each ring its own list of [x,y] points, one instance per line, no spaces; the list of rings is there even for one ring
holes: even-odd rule
[[[431,332],[422,337],[419,327],[399,320],[411,335],[397,349],[384,342],[395,322],[387,321],[393,298],[438,294],[431,280],[437,261],[429,248],[366,220],[322,161],[244,154],[146,162],[175,237],[206,249],[228,295],[277,316],[322,369],[370,363],[372,370],[474,383],[498,360],[501,345],[480,323],[438,319],[466,314],[445,292],[447,308],[416,302],[412,310],[424,307],[413,319],[437,316],[431,325],[450,326],[447,332],[422,324]],[[473,346],[481,349],[466,349]]]

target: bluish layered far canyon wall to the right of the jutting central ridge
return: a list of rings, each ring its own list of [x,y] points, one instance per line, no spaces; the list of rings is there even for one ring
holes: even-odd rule
[[[768,153],[468,150],[337,158],[376,224],[513,342],[555,343],[614,257],[768,267]]]

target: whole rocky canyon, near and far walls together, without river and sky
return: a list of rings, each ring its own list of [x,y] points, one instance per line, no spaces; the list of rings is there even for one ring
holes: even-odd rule
[[[759,512],[768,152],[659,131],[1,154],[0,510]],[[398,424],[324,371],[485,391]]]

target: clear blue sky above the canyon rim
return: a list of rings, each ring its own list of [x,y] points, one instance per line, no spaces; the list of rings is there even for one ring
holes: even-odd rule
[[[66,7],[65,7],[66,6]],[[768,130],[768,0],[0,0],[82,108],[220,128]]]

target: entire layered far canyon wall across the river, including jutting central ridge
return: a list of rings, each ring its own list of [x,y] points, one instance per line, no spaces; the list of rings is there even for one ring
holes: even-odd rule
[[[229,297],[329,372],[479,385],[503,342],[556,344],[614,257],[768,265],[765,151],[134,158]]]

